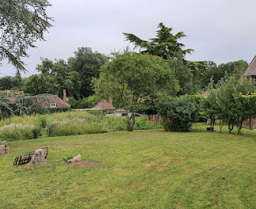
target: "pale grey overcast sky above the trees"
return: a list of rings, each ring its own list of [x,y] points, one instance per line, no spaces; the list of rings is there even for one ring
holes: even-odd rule
[[[36,74],[40,58],[65,59],[78,47],[91,47],[105,55],[132,44],[123,32],[143,40],[155,37],[160,22],[185,32],[184,48],[195,51],[191,61],[211,60],[217,64],[244,59],[250,63],[256,55],[255,0],[48,0],[48,15],[53,27],[46,41],[36,43],[24,59],[28,70],[22,77]],[[15,74],[7,60],[0,77]]]

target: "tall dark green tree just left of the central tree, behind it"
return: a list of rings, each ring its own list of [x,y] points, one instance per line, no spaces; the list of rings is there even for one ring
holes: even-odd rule
[[[82,81],[80,97],[89,97],[94,93],[92,78],[98,78],[100,68],[107,62],[105,55],[93,52],[90,47],[79,47],[75,57],[68,59],[71,71],[76,71]]]

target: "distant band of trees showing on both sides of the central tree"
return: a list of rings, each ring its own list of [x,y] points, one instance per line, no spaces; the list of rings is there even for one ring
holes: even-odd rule
[[[75,100],[94,94],[91,85],[92,78],[98,78],[100,69],[109,59],[90,47],[80,47],[75,56],[66,61],[63,59],[42,59],[36,70],[29,78],[6,76],[0,78],[1,89],[22,89],[25,93],[52,93],[62,97],[63,89],[67,89],[67,96]],[[178,95],[195,94],[206,89],[211,79],[218,83],[225,76],[240,78],[248,67],[248,63],[239,60],[216,65],[212,61],[189,62],[170,60],[170,67],[178,79],[180,90]]]

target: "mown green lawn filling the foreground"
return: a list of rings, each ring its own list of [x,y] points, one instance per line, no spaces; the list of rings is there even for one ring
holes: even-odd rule
[[[0,208],[256,208],[256,135],[115,132],[8,142],[0,156]],[[227,130],[226,130],[227,131]],[[49,147],[48,162],[13,166]],[[65,166],[81,154],[96,167]]]

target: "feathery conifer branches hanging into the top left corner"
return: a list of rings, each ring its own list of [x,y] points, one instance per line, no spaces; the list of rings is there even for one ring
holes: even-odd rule
[[[48,6],[47,0],[1,0],[0,62],[8,59],[17,70],[25,70],[21,58],[37,40],[44,40],[44,32],[52,26]]]

